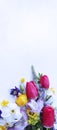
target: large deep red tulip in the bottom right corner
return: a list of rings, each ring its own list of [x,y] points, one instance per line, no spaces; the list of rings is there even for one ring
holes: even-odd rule
[[[51,106],[45,106],[42,111],[42,125],[52,127],[54,124],[54,109]]]

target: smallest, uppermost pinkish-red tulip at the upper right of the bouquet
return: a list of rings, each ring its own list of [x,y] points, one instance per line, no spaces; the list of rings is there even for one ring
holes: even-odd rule
[[[40,84],[41,84],[41,87],[45,89],[49,88],[50,83],[49,83],[49,78],[47,75],[40,76]]]

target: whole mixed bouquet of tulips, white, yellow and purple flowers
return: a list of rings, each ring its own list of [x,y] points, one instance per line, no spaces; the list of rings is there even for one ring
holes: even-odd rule
[[[19,87],[10,89],[13,102],[3,100],[0,103],[0,130],[43,130],[54,129],[57,109],[53,107],[54,88],[50,88],[47,75],[35,73],[25,83],[20,80]]]

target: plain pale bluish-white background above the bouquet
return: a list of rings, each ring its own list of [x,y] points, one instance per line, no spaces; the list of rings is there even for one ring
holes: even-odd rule
[[[0,100],[32,64],[57,91],[57,0],[0,0]]]

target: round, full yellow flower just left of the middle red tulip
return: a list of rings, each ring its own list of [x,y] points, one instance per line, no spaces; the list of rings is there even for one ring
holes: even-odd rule
[[[18,106],[24,106],[28,102],[26,94],[20,94],[15,102]]]

